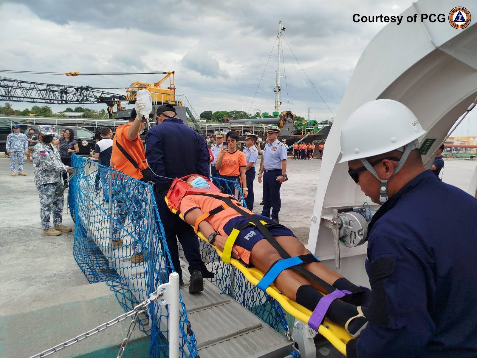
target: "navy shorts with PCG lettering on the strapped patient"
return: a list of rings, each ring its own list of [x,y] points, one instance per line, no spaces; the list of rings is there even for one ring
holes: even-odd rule
[[[270,221],[270,218],[267,218],[266,216],[257,214],[254,214],[253,216],[255,216],[257,220]],[[243,216],[238,216],[236,218],[230,219],[224,226],[224,232],[227,235],[230,235],[232,229],[242,227],[247,222],[249,222],[249,220],[247,218],[244,218]],[[267,224],[265,225],[265,227],[273,236],[296,237],[295,234],[289,228],[281,224]],[[241,249],[243,249],[237,250],[240,253],[241,263],[243,263],[247,267],[252,267],[252,265],[249,263],[250,253],[252,252],[252,249],[255,244],[263,239],[265,239],[265,236],[259,231],[256,226],[253,225],[247,226],[239,233],[239,236],[235,241],[235,246],[239,246]]]

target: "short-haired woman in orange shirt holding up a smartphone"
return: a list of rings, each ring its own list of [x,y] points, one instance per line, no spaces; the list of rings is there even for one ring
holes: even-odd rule
[[[237,148],[239,145],[239,135],[234,131],[230,131],[225,135],[225,141],[228,147],[222,147],[215,168],[218,170],[220,178],[234,181],[239,179],[243,196],[247,198],[249,191],[244,187],[247,185],[245,177],[247,160],[245,159],[245,154]],[[234,195],[228,188],[225,188],[224,193]]]

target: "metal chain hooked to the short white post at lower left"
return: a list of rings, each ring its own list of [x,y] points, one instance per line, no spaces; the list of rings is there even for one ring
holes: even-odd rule
[[[136,305],[131,311],[126,312],[126,313],[122,314],[121,316],[117,316],[116,318],[112,319],[111,321],[105,322],[102,325],[97,326],[96,328],[93,328],[93,329],[91,329],[87,332],[84,332],[83,334],[81,334],[79,336],[76,336],[76,337],[74,337],[72,339],[69,339],[69,340],[67,340],[63,343],[60,343],[60,344],[58,344],[54,347],[51,347],[50,349],[46,349],[46,350],[42,351],[41,353],[37,353],[37,354],[31,356],[30,358],[47,357],[50,354],[58,352],[59,350],[63,349],[64,347],[72,346],[73,344],[78,343],[78,342],[80,342],[83,339],[86,339],[88,337],[91,337],[91,336],[95,335],[96,333],[103,331],[106,328],[114,326],[116,323],[124,321],[124,319],[126,319],[127,317],[134,316],[133,321],[129,325],[129,329],[127,331],[126,338],[124,338],[124,341],[121,344],[121,347],[120,347],[120,350],[119,350],[119,353],[118,353],[118,358],[120,358],[120,357],[122,357],[122,355],[124,353],[124,349],[126,348],[128,342],[129,342],[129,338],[131,337],[131,334],[133,333],[133,331],[135,329],[136,322],[137,322],[137,317],[139,316],[140,313],[143,313],[147,310],[148,305],[150,305],[153,301],[156,301],[162,295],[164,295],[164,290],[163,289],[161,289],[160,292],[154,291],[152,294],[149,295],[149,298],[146,298],[145,300],[141,301],[141,303]]]

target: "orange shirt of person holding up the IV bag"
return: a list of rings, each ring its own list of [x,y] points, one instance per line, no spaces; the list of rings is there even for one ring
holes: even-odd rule
[[[143,175],[141,170],[147,168],[147,161],[144,152],[144,145],[141,137],[137,136],[135,140],[129,139],[127,131],[131,123],[125,125],[117,126],[116,135],[113,140],[113,153],[111,154],[111,160],[114,163],[114,169],[120,171],[130,177],[135,179],[142,179]],[[124,157],[124,154],[121,153],[119,148],[116,145],[116,141],[124,148],[124,150],[139,164],[139,168],[135,168],[131,162]],[[141,170],[140,170],[141,169]]]

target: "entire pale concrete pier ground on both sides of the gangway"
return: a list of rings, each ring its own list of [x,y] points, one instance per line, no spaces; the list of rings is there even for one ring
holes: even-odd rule
[[[476,165],[477,161],[446,160],[443,180],[467,190]],[[289,180],[281,187],[280,223],[290,227],[303,243],[308,241],[320,167],[319,159],[289,159]],[[259,163],[257,172],[258,168]],[[109,288],[104,283],[90,285],[73,258],[74,223],[67,211],[66,195],[63,224],[72,226],[73,232],[56,237],[41,236],[40,203],[33,184],[32,164],[25,162],[24,172],[26,177],[11,177],[10,160],[0,158],[0,357],[25,357],[37,353],[123,312]],[[262,185],[257,180],[254,191],[253,211],[259,214]],[[55,305],[62,308],[51,310]],[[76,323],[69,320],[68,307],[72,305],[83,316]],[[99,307],[101,314],[96,314],[94,307]],[[13,316],[23,317],[21,319],[26,322],[13,329]],[[44,339],[41,333],[45,320],[50,320],[57,328],[47,334],[49,339],[35,342],[37,335]],[[4,334],[1,334],[2,321],[3,325],[10,325],[3,326]],[[124,338],[125,326],[118,327],[117,334],[108,335],[107,339],[104,334],[95,336],[98,340],[94,348],[97,350],[114,342],[119,344]],[[141,338],[141,335],[135,338]],[[15,343],[22,348],[5,350]],[[15,354],[10,354],[12,351]],[[80,352],[75,355],[69,350],[67,355],[59,353],[58,356],[75,357]]]

